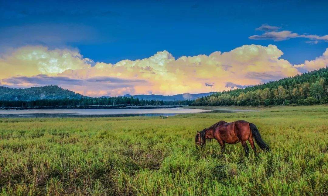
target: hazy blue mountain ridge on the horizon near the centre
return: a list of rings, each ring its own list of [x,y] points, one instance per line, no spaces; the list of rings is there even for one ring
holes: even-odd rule
[[[139,98],[140,100],[159,100],[159,101],[180,101],[180,100],[195,100],[200,97],[208,96],[213,94],[214,92],[208,93],[198,93],[198,94],[178,94],[178,95],[130,95],[126,94],[123,97],[133,97],[134,99]]]

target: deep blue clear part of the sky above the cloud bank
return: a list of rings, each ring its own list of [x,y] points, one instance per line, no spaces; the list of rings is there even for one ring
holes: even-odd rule
[[[249,39],[261,24],[297,34],[328,34],[328,1],[1,1],[0,50],[24,45],[77,48],[93,61],[209,55],[244,44],[276,45],[298,64],[328,42]]]

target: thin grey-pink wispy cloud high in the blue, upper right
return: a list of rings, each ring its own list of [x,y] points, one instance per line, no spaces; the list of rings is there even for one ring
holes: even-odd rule
[[[299,35],[297,33],[293,33],[291,31],[277,31],[280,27],[275,27],[275,26],[269,26],[269,25],[261,25],[260,27],[256,28],[256,30],[261,30],[265,31],[262,35],[254,35],[248,37],[249,39],[257,39],[257,40],[262,40],[262,39],[272,39],[274,41],[282,41],[282,40],[287,40],[290,38],[308,38],[311,40],[315,41],[306,41],[306,43],[310,44],[317,44],[318,40],[324,40],[328,41],[328,35],[325,36],[317,36],[317,35],[306,35],[302,34]]]

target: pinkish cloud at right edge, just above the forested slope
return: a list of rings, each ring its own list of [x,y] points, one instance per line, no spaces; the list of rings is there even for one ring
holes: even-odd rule
[[[301,71],[312,71],[315,69],[325,68],[328,66],[328,48],[322,54],[322,56],[317,57],[315,60],[305,61],[302,64],[294,65]]]

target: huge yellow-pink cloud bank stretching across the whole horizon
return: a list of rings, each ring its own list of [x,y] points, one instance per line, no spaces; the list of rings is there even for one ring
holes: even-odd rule
[[[0,85],[59,85],[88,96],[202,93],[294,76],[300,70],[323,67],[328,59],[326,51],[315,62],[292,65],[282,55],[275,45],[252,44],[177,59],[164,50],[149,58],[111,64],[93,62],[76,50],[26,46],[2,55]]]

